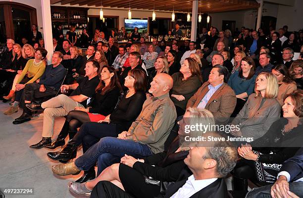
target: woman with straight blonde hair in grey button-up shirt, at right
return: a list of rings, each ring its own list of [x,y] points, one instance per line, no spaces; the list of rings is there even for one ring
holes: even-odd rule
[[[255,81],[254,92],[242,110],[232,121],[240,130],[232,131],[236,137],[262,137],[271,124],[280,118],[281,106],[277,100],[278,80],[269,72],[260,73]]]

